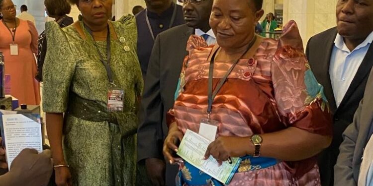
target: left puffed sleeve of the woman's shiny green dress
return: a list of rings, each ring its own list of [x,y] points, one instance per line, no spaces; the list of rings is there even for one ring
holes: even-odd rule
[[[65,32],[56,22],[46,23],[47,54],[43,66],[43,111],[67,110],[76,60]]]

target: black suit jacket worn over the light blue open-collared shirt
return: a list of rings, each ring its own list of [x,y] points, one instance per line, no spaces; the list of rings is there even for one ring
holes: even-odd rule
[[[317,81],[324,86],[330,110],[333,114],[333,141],[330,147],[319,155],[319,167],[322,186],[332,186],[334,165],[342,143],[342,133],[352,123],[354,113],[363,98],[369,72],[373,64],[373,45],[369,48],[364,61],[360,65],[345,97],[337,108],[329,75],[330,57],[332,54],[337,29],[331,28],[311,37],[307,44],[306,55]],[[341,69],[342,70],[342,69]]]

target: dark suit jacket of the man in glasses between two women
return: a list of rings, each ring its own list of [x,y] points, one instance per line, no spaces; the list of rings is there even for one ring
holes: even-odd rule
[[[141,103],[141,122],[137,131],[138,160],[164,159],[163,141],[168,133],[166,112],[174,106],[174,97],[187,40],[194,29],[180,25],[160,33],[155,41],[145,79]],[[175,185],[177,168],[166,170],[167,186]]]

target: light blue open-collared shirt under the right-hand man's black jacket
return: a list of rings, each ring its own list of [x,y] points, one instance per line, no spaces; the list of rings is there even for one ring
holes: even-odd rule
[[[367,39],[350,51],[343,37],[337,34],[334,40],[334,47],[330,58],[329,74],[333,87],[334,98],[337,107],[341,104],[360,64],[363,62],[369,47],[373,41],[373,32]]]

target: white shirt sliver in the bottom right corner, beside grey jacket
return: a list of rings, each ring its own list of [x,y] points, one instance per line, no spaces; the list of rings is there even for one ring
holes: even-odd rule
[[[373,135],[364,149],[358,186],[373,186]]]

